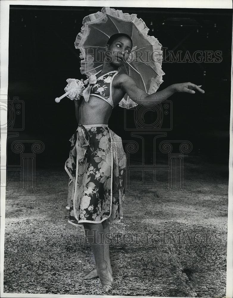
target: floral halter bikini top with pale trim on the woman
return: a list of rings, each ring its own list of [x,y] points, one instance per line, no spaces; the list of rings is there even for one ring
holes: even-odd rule
[[[102,100],[109,103],[112,108],[114,108],[112,101],[112,80],[117,73],[118,70],[112,70],[111,72],[107,72],[107,74],[98,77],[96,84],[93,84],[90,89],[90,95],[100,97]]]

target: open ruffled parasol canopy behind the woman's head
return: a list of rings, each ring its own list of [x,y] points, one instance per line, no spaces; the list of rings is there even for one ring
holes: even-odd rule
[[[96,75],[101,72],[104,62],[104,50],[108,39],[115,33],[126,33],[133,41],[129,59],[118,69],[119,73],[128,74],[137,86],[148,94],[157,91],[163,82],[161,44],[154,36],[147,35],[149,29],[136,14],[123,13],[110,7],[103,7],[101,12],[87,15],[82,22],[81,32],[76,37],[75,48],[80,50],[82,74]],[[136,106],[127,94],[119,106]]]

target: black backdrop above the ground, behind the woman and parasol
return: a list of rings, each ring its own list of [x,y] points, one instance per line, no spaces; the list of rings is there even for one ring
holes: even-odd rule
[[[188,140],[193,144],[191,155],[206,156],[211,162],[227,165],[232,10],[112,8],[136,13],[150,29],[148,35],[154,35],[163,48],[174,53],[179,50],[191,54],[196,50],[222,51],[221,63],[162,63],[164,82],[158,90],[173,83],[191,81],[202,85],[205,94],[176,93],[169,98],[173,102],[173,129],[159,141]],[[7,164],[19,162],[10,143],[40,140],[45,150],[37,155],[37,167],[64,166],[69,156],[69,138],[77,127],[74,102],[65,98],[57,104],[54,100],[65,93],[66,79],[86,79],[80,74],[80,52],[75,49],[74,41],[83,18],[97,11],[101,11],[101,7],[10,5],[8,96],[11,102],[14,97],[24,102],[25,125],[18,137],[8,141]],[[130,131],[125,131],[124,114],[123,108],[114,108],[109,127],[122,137],[125,146],[125,141],[137,139]],[[126,111],[127,116],[133,123],[132,111]],[[146,121],[154,122],[154,117],[155,113],[148,112]],[[17,131],[17,123],[9,133]],[[150,162],[153,147],[147,145],[146,156]]]

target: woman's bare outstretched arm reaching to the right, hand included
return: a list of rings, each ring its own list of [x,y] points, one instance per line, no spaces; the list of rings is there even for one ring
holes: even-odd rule
[[[194,94],[195,91],[191,89],[197,89],[201,93],[205,93],[199,86],[187,82],[187,83],[178,83],[168,86],[162,91],[158,91],[152,94],[147,94],[145,91],[137,87],[135,81],[126,74],[120,75],[120,85],[121,89],[129,95],[129,97],[134,100],[136,103],[148,103],[151,101],[161,101],[163,98],[168,98],[173,95],[175,92],[188,92]]]

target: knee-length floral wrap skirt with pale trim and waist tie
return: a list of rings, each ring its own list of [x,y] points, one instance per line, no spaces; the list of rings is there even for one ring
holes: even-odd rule
[[[98,224],[106,219],[120,222],[126,169],[122,140],[105,124],[79,124],[78,128],[70,138],[70,156],[65,162],[69,175],[68,222],[73,225]]]

